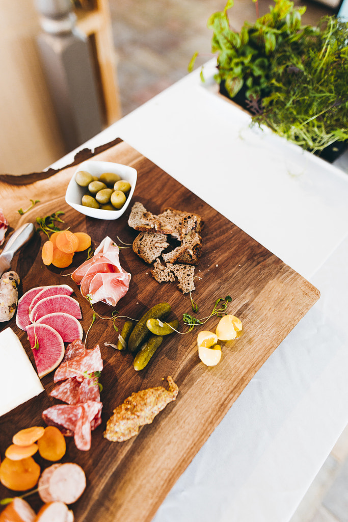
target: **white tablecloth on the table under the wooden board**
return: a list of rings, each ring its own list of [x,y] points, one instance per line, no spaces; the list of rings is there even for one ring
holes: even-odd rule
[[[123,138],[320,290],[153,520],[286,522],[348,422],[348,155],[338,168],[250,128],[213,92],[213,69],[206,84],[196,70],[87,146]]]

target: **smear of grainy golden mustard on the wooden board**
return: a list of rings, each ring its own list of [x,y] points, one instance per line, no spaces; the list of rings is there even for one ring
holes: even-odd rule
[[[151,424],[155,416],[176,399],[179,388],[171,376],[167,377],[169,390],[163,386],[134,392],[114,409],[106,423],[104,437],[109,441],[122,442],[137,435],[139,426]]]

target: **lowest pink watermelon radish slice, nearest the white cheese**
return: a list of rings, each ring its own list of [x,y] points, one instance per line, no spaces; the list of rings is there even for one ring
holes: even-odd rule
[[[42,378],[52,372],[62,361],[64,357],[63,339],[54,328],[44,324],[28,325],[27,334],[39,377]]]

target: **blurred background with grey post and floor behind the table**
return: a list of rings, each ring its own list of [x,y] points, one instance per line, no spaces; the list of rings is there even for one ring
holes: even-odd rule
[[[341,1],[294,3],[306,5],[303,22],[315,24],[337,13]],[[272,4],[259,0],[259,16]],[[208,61],[207,20],[224,5],[224,0],[2,0],[0,173],[40,172],[185,76],[195,51],[197,67]],[[239,30],[244,20],[256,19],[255,3],[235,0],[229,16]],[[82,41],[93,89],[85,77],[88,67],[81,65]],[[69,111],[76,112],[70,120]]]

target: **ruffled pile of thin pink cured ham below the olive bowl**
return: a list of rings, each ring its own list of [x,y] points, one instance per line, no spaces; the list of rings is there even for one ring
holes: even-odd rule
[[[82,263],[71,275],[80,285],[81,294],[91,303],[116,306],[127,293],[131,274],[119,262],[119,248],[109,236],[103,239],[94,256]]]

